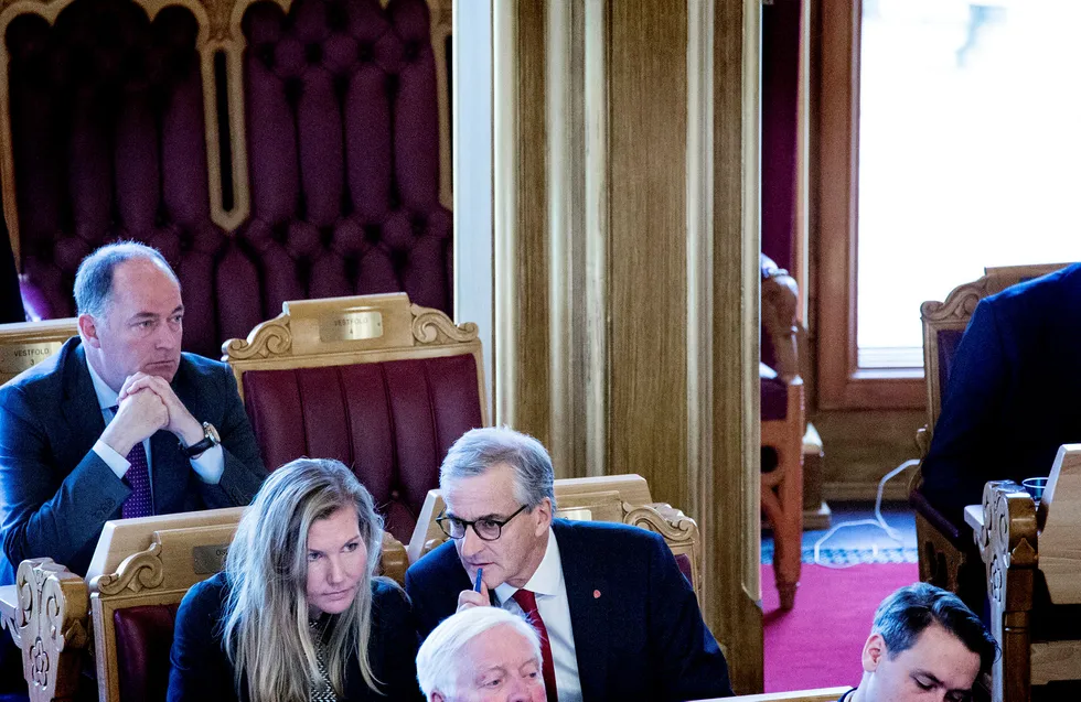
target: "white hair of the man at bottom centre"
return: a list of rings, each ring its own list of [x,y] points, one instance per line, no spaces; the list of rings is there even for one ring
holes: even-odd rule
[[[465,659],[465,646],[489,629],[510,626],[529,641],[533,655],[540,662],[540,637],[522,617],[500,607],[471,607],[440,623],[417,651],[417,681],[425,698],[441,692],[448,698],[458,694],[458,667]]]

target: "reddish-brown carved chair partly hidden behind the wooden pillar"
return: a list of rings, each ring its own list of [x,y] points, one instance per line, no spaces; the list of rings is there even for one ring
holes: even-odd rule
[[[796,353],[795,280],[762,257],[762,512],[773,528],[773,571],[781,607],[800,584],[803,540],[803,446],[806,417]],[[817,435],[817,434],[815,434]],[[772,465],[766,465],[774,457]]]

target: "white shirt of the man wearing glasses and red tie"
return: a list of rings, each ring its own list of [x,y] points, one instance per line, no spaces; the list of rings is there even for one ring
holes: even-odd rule
[[[575,630],[570,623],[570,601],[567,600],[567,582],[563,576],[563,561],[559,560],[559,542],[550,527],[544,558],[524,590],[537,596],[537,613],[544,620],[544,628],[548,631],[548,646],[552,647],[559,702],[581,702]],[[495,588],[495,596],[504,609],[524,616],[522,607],[513,600],[517,591],[517,587],[503,583]]]

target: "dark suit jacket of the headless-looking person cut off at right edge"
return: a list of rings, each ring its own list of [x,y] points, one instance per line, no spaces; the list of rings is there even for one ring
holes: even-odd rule
[[[1081,442],[1081,264],[976,305],[923,461],[923,495],[956,523],[987,480],[1046,476]]]

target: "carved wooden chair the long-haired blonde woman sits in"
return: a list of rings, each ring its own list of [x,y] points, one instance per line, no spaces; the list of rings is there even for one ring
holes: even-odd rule
[[[32,702],[72,699],[87,648],[98,700],[164,700],[176,607],[222,569],[243,512],[106,522],[85,580],[52,559],[23,561],[15,606],[2,614],[22,649]],[[405,547],[384,534],[381,572],[404,583],[405,570]]]

